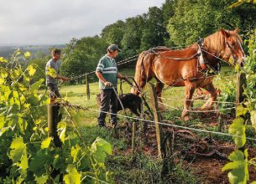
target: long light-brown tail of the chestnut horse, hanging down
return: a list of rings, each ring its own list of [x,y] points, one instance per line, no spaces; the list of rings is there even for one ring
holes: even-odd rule
[[[142,80],[146,76],[145,69],[144,69],[144,57],[145,57],[144,52],[139,54],[138,56],[138,60],[135,68],[135,74],[134,74],[134,80],[136,84],[133,83],[133,87],[130,91],[134,95],[139,95],[140,91],[144,87],[142,86],[142,82],[143,82]]]

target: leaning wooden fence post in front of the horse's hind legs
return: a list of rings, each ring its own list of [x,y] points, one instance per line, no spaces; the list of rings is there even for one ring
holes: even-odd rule
[[[149,91],[150,91],[150,98],[151,98],[150,101],[154,111],[154,125],[155,125],[158,156],[159,158],[162,158],[162,150],[165,150],[165,149],[161,148],[161,141],[164,138],[162,127],[161,125],[159,125],[159,122],[161,121],[161,116],[159,112],[159,105],[158,105],[157,95],[154,89],[154,84],[149,84],[149,85],[150,85]]]

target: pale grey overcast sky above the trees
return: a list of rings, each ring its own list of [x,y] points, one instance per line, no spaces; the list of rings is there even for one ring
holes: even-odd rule
[[[165,0],[0,0],[0,44],[68,43]]]

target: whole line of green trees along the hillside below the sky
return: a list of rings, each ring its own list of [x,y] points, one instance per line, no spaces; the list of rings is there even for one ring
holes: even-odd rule
[[[91,72],[111,43],[123,49],[117,59],[122,60],[156,46],[188,46],[219,28],[240,28],[243,40],[248,39],[256,28],[256,5],[230,8],[232,3],[236,1],[165,0],[160,8],[150,7],[147,13],[107,25],[100,35],[72,38],[64,49],[61,72],[65,76]]]

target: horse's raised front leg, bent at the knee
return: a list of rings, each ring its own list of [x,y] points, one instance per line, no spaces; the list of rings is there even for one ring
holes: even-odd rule
[[[201,107],[201,110],[212,110],[213,105],[216,105],[217,108],[217,92],[215,87],[212,83],[207,84],[206,86],[202,87],[206,89],[211,95],[210,99],[206,101],[206,103]]]

